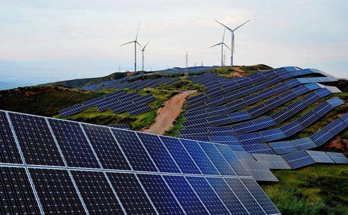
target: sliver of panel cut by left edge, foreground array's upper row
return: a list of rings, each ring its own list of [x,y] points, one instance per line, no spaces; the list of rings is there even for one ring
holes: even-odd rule
[[[23,164],[6,113],[0,111],[0,163]]]

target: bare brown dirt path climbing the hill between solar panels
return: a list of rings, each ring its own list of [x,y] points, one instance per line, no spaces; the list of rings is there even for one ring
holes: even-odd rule
[[[164,102],[164,107],[157,111],[156,122],[148,129],[143,129],[141,132],[151,134],[164,134],[173,127],[174,120],[180,116],[182,105],[187,96],[195,93],[196,90],[187,90],[180,94],[174,95],[168,101]]]

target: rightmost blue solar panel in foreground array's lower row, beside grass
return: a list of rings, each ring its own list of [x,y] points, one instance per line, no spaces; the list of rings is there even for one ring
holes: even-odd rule
[[[266,193],[264,193],[255,180],[251,178],[242,178],[240,180],[248,188],[248,191],[254,196],[255,200],[258,201],[266,214],[280,214],[278,209],[273,205],[271,200],[269,200]]]

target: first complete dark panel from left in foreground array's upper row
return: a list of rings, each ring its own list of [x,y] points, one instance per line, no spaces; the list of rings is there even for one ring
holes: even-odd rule
[[[65,166],[45,118],[9,113],[26,164]]]

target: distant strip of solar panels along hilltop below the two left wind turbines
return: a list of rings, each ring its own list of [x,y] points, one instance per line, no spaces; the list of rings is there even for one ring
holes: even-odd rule
[[[159,77],[158,79],[145,79],[145,80],[135,80],[130,81],[129,79],[134,79],[136,77],[141,77],[142,74],[136,75],[136,76],[127,76],[122,79],[116,79],[111,81],[102,81],[99,83],[93,83],[88,86],[84,86],[80,88],[81,90],[90,90],[90,91],[97,91],[97,90],[103,90],[103,89],[136,89],[141,90],[143,88],[155,88],[161,84],[171,84],[176,81],[179,81],[180,78],[168,78],[168,77]]]

